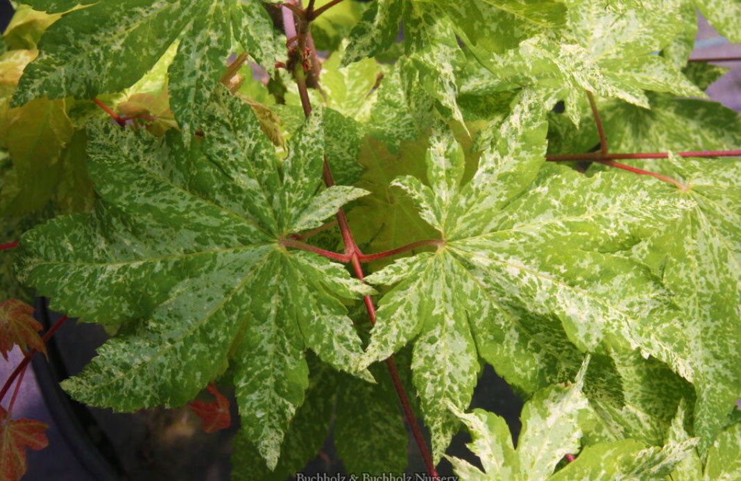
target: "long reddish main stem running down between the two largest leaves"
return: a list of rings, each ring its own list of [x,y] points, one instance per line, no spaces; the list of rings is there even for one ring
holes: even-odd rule
[[[320,8],[319,10],[316,10],[314,13],[314,16],[317,16],[321,14],[324,10],[326,10],[328,7],[331,7],[334,4],[338,4],[341,0],[334,0],[325,5],[325,7]],[[289,13],[290,10],[286,9],[283,11],[284,13],[284,19],[285,14]],[[285,21],[284,21],[285,23]],[[289,22],[290,24],[293,24],[293,19]],[[308,21],[302,22],[299,28],[299,34],[300,33],[308,33],[310,27],[310,19]],[[289,35],[288,31],[286,31],[286,35]],[[302,39],[304,41],[302,42]],[[303,57],[304,49],[306,47],[305,44],[305,36],[299,35],[299,53]],[[306,87],[306,81],[304,72],[302,70],[302,66],[299,65],[298,68],[296,68],[296,84],[299,87],[299,96],[301,97],[301,105],[304,109],[305,116],[309,116],[311,113],[311,102],[308,95],[308,90]],[[329,163],[327,162],[327,157],[325,156],[324,159],[324,179],[325,184],[328,187],[331,187],[334,185],[334,180],[332,178],[332,172],[329,167]],[[350,225],[348,225],[348,218],[345,216],[345,210],[342,208],[339,208],[337,210],[337,223],[339,224],[339,229],[342,232],[342,239],[345,242],[345,253],[350,256],[350,260],[353,263],[353,270],[355,271],[355,276],[362,280],[363,277],[365,277],[365,274],[363,273],[362,266],[360,265],[360,256],[362,253],[360,252],[360,249],[358,248],[355,239],[353,239],[353,233],[350,231]],[[371,318],[371,324],[376,324],[376,306],[373,305],[373,299],[371,299],[371,296],[363,296],[363,302],[365,302],[365,308],[368,310],[368,316]],[[399,396],[399,402],[402,404],[402,410],[404,411],[404,415],[407,419],[407,422],[409,424],[409,428],[412,431],[412,434],[414,436],[414,439],[416,440],[416,444],[419,447],[420,454],[422,454],[422,458],[425,460],[425,465],[427,465],[428,472],[430,473],[430,476],[433,478],[433,480],[438,479],[438,474],[435,469],[435,465],[432,461],[432,456],[430,454],[430,451],[427,447],[427,444],[425,443],[425,439],[422,437],[422,430],[419,428],[419,424],[416,421],[416,417],[414,417],[414,413],[411,409],[411,405],[409,403],[409,398],[407,396],[407,393],[404,389],[404,385],[402,384],[401,379],[399,379],[399,373],[396,370],[396,365],[393,362],[393,359],[389,357],[386,359],[386,366],[388,367],[388,372],[391,374],[391,379],[393,381],[393,387],[396,389],[396,394]]]

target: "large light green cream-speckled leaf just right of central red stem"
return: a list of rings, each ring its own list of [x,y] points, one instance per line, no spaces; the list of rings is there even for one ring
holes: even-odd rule
[[[582,350],[626,348],[642,342],[634,326],[644,317],[673,309],[647,267],[608,252],[631,247],[691,202],[620,176],[543,167],[544,119],[542,99],[525,91],[466,185],[462,149],[445,128],[428,150],[430,186],[411,176],[394,182],[445,245],[368,277],[396,287],[380,301],[365,363],[416,339],[413,382],[436,457],[456,431],[446,403],[468,405],[479,356],[509,382],[531,383],[530,359],[548,343],[534,336],[539,319],[558,319],[556,331]],[[503,355],[505,345],[522,351]]]

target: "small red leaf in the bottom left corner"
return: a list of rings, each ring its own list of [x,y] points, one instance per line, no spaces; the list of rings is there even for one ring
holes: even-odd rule
[[[10,419],[0,407],[0,479],[17,481],[26,472],[26,448],[39,451],[49,445],[44,434],[48,428],[33,419]]]

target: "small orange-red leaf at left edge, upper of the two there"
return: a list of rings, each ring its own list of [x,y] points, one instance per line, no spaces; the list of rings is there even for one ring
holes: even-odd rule
[[[46,354],[44,341],[39,336],[43,326],[33,319],[33,308],[18,299],[0,302],[0,354],[7,361],[7,353],[14,345],[26,346]]]

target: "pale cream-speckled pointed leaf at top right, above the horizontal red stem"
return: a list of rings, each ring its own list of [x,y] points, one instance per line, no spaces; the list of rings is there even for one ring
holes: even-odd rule
[[[598,1],[565,3],[568,28],[534,36],[502,56],[474,48],[476,58],[498,78],[554,90],[566,99],[574,122],[585,107],[583,90],[647,108],[644,90],[705,96],[672,62],[653,55],[681,31],[682,22],[665,21],[680,16],[679,0],[624,13],[605,9]]]

